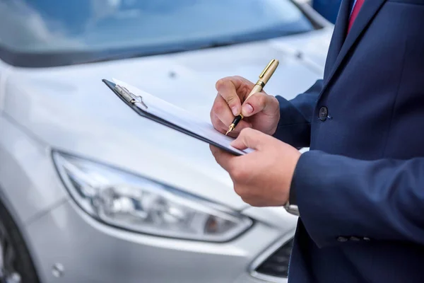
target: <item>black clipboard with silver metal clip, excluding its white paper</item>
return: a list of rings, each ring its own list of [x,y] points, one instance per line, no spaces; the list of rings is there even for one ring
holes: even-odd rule
[[[162,117],[158,117],[158,115],[153,115],[151,112],[149,112],[149,105],[143,100],[143,96],[139,96],[134,93],[131,93],[131,91],[129,91],[125,86],[122,86],[117,83],[113,83],[112,81],[108,81],[107,79],[102,79],[102,82],[105,83],[106,86],[110,88],[110,90],[112,90],[113,93],[120,100],[122,100],[126,105],[129,106],[129,108],[134,110],[134,112],[136,112],[141,117],[145,117],[149,120],[153,120],[155,122],[158,122],[161,125],[170,127],[171,129],[175,129],[178,132],[187,134],[190,137],[194,137],[195,139],[204,141],[208,144],[218,147],[219,149],[223,149],[224,151],[227,151],[228,153],[233,154],[235,156],[248,154],[251,151],[251,149],[245,149],[245,150],[235,149],[234,147],[229,146],[229,142],[228,144],[226,144],[218,139],[214,140],[208,137],[204,137],[201,134],[197,134],[196,132],[190,129],[187,129],[187,127],[182,127],[181,125],[177,125],[177,123],[175,122],[172,122],[170,120],[165,120]],[[219,133],[218,131],[216,132]],[[232,140],[232,138],[227,136],[225,136],[225,139]]]

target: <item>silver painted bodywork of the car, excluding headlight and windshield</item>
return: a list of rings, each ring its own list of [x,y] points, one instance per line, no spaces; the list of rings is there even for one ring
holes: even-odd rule
[[[293,236],[295,216],[281,208],[249,207],[207,144],[141,119],[100,80],[121,79],[208,117],[217,79],[237,74],[254,81],[271,58],[281,64],[265,91],[285,98],[305,91],[322,76],[330,36],[326,28],[211,50],[46,69],[0,62],[1,199],[21,226],[43,282],[261,282],[249,276],[249,265],[273,242]],[[243,210],[257,223],[223,244],[105,226],[69,200],[52,149],[148,175]],[[57,262],[65,269],[60,280],[52,275]]]

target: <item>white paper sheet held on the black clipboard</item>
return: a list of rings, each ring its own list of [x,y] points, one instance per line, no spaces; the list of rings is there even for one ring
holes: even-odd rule
[[[172,124],[182,127],[183,129],[187,129],[189,132],[214,141],[216,144],[219,144],[226,149],[230,149],[230,151],[234,151],[242,155],[253,151],[252,149],[245,149],[243,151],[235,149],[235,147],[230,145],[231,141],[234,139],[218,132],[213,128],[211,122],[201,120],[201,118],[192,115],[192,113],[167,103],[165,100],[157,98],[150,93],[146,93],[146,91],[141,91],[139,88],[131,86],[128,83],[124,83],[117,79],[112,79],[112,81],[119,86],[123,86],[135,96],[141,96],[143,98],[143,102],[148,106],[148,108],[145,108],[141,103],[134,104],[145,112],[151,113],[156,117],[160,117],[163,120],[167,120],[172,122]]]

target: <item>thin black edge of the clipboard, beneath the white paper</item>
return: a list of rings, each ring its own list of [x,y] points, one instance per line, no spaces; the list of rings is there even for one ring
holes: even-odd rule
[[[106,84],[107,87],[109,87],[114,94],[117,95],[117,97],[119,97],[119,99],[121,99],[126,105],[129,106],[129,108],[131,108],[132,110],[134,110],[137,114],[141,115],[142,117],[146,117],[150,120],[153,120],[155,122],[160,123],[161,125],[170,127],[171,129],[175,129],[178,132],[182,132],[183,134],[187,134],[190,137],[194,137],[195,139],[199,139],[201,141],[204,141],[208,144],[211,144],[213,146],[218,147],[219,149],[223,149],[224,151],[227,151],[230,154],[233,154],[235,156],[241,156],[242,154],[240,154],[237,151],[232,151],[231,149],[227,149],[225,146],[221,146],[220,144],[216,143],[215,141],[211,141],[210,139],[206,139],[206,137],[201,137],[199,134],[195,134],[194,132],[189,131],[188,129],[184,129],[182,127],[179,127],[175,124],[172,124],[171,122],[167,121],[167,120],[163,120],[160,117],[156,117],[155,115],[151,115],[148,112],[143,112],[141,109],[139,109],[138,107],[136,107],[136,105],[128,102],[127,100],[125,100],[120,93],[117,92],[117,90],[115,89],[116,83],[112,83],[112,81],[108,81],[107,79],[102,79],[102,82]]]

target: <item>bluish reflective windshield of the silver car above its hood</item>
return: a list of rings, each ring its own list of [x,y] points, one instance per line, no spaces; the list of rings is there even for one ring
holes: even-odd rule
[[[2,0],[0,57],[47,67],[302,33],[290,0]]]

